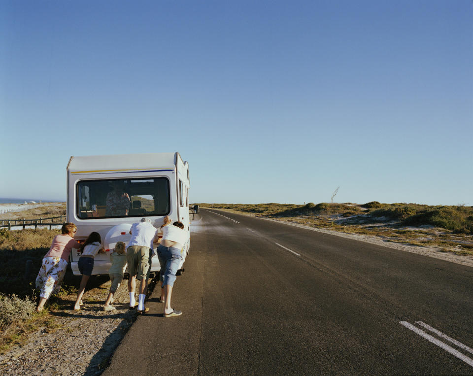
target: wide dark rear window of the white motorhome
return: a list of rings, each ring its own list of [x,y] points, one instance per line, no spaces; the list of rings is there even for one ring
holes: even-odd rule
[[[169,214],[169,180],[81,180],[76,191],[80,219],[142,217]]]

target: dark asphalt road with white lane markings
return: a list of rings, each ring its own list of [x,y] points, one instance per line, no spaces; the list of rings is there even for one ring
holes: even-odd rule
[[[473,375],[473,268],[217,210],[191,232],[183,315],[156,289],[104,375]]]

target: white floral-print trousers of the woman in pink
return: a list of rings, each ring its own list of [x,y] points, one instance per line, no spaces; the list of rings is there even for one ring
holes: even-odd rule
[[[67,266],[68,262],[61,257],[43,258],[43,265],[36,277],[36,288],[41,289],[41,298],[49,299],[51,294],[59,292]]]

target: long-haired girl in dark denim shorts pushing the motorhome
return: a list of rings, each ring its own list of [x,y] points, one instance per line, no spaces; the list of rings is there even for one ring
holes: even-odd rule
[[[92,275],[92,269],[94,269],[95,255],[105,252],[101,246],[100,234],[96,232],[90,233],[89,237],[80,246],[79,252],[81,252],[82,255],[79,257],[77,267],[79,268],[79,272],[82,274],[82,279],[80,280],[79,291],[77,292],[77,299],[74,304],[75,311],[80,309],[85,286]]]

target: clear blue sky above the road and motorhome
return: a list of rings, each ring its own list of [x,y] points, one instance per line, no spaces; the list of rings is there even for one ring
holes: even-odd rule
[[[0,197],[179,151],[191,202],[473,205],[473,2],[0,0]]]

